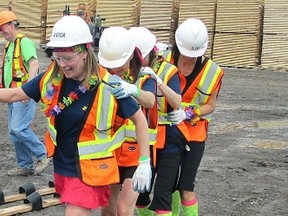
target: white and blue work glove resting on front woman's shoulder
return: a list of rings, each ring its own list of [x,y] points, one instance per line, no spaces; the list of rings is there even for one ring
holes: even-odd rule
[[[139,95],[139,88],[134,85],[123,81],[119,76],[113,75],[114,80],[109,82],[109,85],[114,86],[111,93],[117,98],[127,98],[129,96],[137,97]]]

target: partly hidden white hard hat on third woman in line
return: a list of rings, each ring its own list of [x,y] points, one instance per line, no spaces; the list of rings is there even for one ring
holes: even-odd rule
[[[145,58],[156,44],[156,36],[145,27],[132,27],[129,29],[136,47],[141,51],[142,57]]]

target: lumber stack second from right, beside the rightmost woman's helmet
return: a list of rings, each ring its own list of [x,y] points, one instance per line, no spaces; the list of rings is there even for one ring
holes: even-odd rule
[[[218,0],[212,56],[219,65],[258,66],[262,4],[260,0]]]

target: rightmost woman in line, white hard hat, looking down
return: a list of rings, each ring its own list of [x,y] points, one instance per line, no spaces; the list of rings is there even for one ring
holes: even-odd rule
[[[167,115],[167,120],[176,124],[185,137],[182,139],[182,135],[178,135],[180,144],[185,146],[177,182],[183,216],[198,216],[195,177],[204,154],[208,125],[216,108],[224,75],[223,70],[205,56],[207,45],[206,25],[199,19],[190,18],[178,26],[172,51],[165,55],[168,61],[178,67],[183,85],[181,108]],[[179,124],[181,122],[184,124]],[[171,207],[163,205],[162,199],[160,194],[155,193],[149,208],[168,211],[162,215],[172,215]]]

